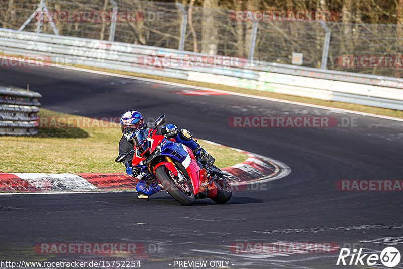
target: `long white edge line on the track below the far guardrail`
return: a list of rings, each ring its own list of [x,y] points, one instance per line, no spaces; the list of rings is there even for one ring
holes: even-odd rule
[[[248,97],[248,98],[255,98],[255,99],[261,99],[261,100],[267,100],[267,101],[273,101],[273,102],[279,102],[279,103],[286,103],[286,104],[293,104],[293,105],[300,105],[300,106],[308,106],[308,107],[314,107],[314,108],[320,108],[320,109],[326,109],[326,110],[340,111],[340,112],[345,112],[345,113],[358,114],[358,115],[362,115],[362,116],[369,116],[369,117],[383,118],[383,119],[389,119],[389,120],[403,121],[403,119],[401,119],[401,118],[377,115],[377,114],[372,114],[372,113],[365,113],[365,112],[359,112],[359,111],[342,109],[342,108],[334,108],[334,107],[329,107],[329,106],[313,105],[313,104],[307,104],[307,103],[301,103],[301,102],[295,102],[295,101],[282,100],[282,99],[277,99],[277,98],[257,96],[257,95],[252,95],[252,94],[236,93],[236,92],[230,92],[230,91],[224,91],[224,90],[217,90],[217,89],[213,89],[213,88],[192,86],[192,85],[181,84],[181,83],[176,83],[176,82],[168,82],[168,81],[162,81],[162,80],[156,80],[156,79],[140,78],[140,77],[135,77],[135,76],[128,76],[128,75],[122,75],[122,74],[116,74],[116,73],[109,73],[109,72],[105,72],[105,71],[96,71],[96,70],[90,70],[90,69],[84,69],[84,68],[77,68],[77,67],[73,67],[73,66],[63,66],[63,65],[60,66],[60,65],[58,65],[58,66],[53,66],[53,67],[69,69],[69,70],[75,70],[75,71],[88,72],[88,73],[95,73],[95,74],[101,74],[101,75],[113,76],[113,77],[119,77],[119,78],[126,78],[126,79],[133,79],[133,80],[142,80],[142,81],[148,81],[148,82],[162,83],[162,84],[179,86],[179,87],[184,87],[184,88],[215,91],[215,92],[227,93],[227,94],[230,94],[230,95],[237,95],[237,96],[243,96],[243,97]]]

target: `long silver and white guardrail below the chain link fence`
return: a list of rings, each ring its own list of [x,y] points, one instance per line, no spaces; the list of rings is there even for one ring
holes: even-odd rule
[[[403,110],[403,79],[391,77],[9,29],[0,29],[0,53]]]

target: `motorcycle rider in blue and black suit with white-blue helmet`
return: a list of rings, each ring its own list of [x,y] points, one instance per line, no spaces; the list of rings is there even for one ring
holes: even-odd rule
[[[123,136],[119,142],[119,154],[127,154],[133,150],[135,143],[133,142],[133,136],[135,131],[141,128],[153,129],[154,122],[147,122],[144,124],[143,116],[136,110],[127,111],[120,118],[120,127],[122,129]],[[194,141],[190,131],[182,129],[181,131],[173,124],[167,124],[160,126],[156,130],[156,134],[162,134],[166,139],[174,139],[177,143],[182,143],[191,149],[196,157],[199,157],[201,161],[204,161],[207,165],[212,165],[215,159],[208,154],[203,148],[200,147],[197,141]],[[126,166],[126,173],[131,177],[136,177],[140,174],[141,169],[133,167],[131,161],[133,160],[133,153],[130,153],[123,160]],[[147,199],[150,195],[157,193],[162,188],[148,179],[141,179],[136,185],[137,196],[142,199]]]

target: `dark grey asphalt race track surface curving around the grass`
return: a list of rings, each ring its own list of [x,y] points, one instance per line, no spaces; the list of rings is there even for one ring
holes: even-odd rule
[[[178,95],[172,91],[189,88],[56,68],[2,68],[0,81],[23,88],[29,83],[43,95],[44,108],[60,112],[100,117],[136,109],[146,118],[165,113],[167,122],[195,137],[265,155],[292,169],[285,178],[235,191],[226,205],[198,200],[184,207],[166,193],[149,200],[129,192],[2,195],[1,260],[119,259],[39,254],[33,246],[40,242],[142,243],[143,256],[120,256],[142,258],[141,268],[178,268],[175,260],[192,259],[225,260],[230,268],[350,267],[335,265],[339,251],[234,253],[229,246],[235,242],[335,242],[363,252],[396,243],[403,254],[403,192],[335,187],[342,179],[403,179],[402,122],[234,95]],[[232,128],[227,122],[232,116],[266,115],[353,117],[357,126]],[[30,154],[21,161],[29,161]],[[385,268],[380,262],[373,267]]]

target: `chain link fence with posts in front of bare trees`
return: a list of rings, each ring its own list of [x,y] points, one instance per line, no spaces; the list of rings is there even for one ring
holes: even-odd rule
[[[117,20],[94,19],[94,14],[111,14],[114,9],[122,14]],[[76,15],[70,19],[68,15],[61,16],[69,11]],[[77,17],[83,16],[84,11],[90,12],[90,19]],[[134,15],[127,19],[130,12]],[[52,22],[47,14],[51,14]],[[292,64],[293,53],[302,53],[302,66],[403,77],[402,25],[253,22],[236,20],[234,12],[228,10],[133,0],[0,0],[0,18],[3,18],[0,27],[9,29],[58,32],[65,36],[284,64]]]

